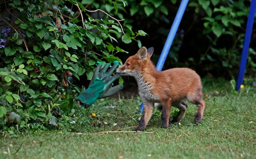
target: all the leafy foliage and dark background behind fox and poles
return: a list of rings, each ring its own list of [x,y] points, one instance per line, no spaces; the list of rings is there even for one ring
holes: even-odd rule
[[[70,126],[95,63],[156,63],[180,0],[0,0],[0,129]],[[250,0],[190,0],[164,69],[236,79]],[[255,30],[247,76],[256,71]],[[122,82],[120,80],[119,82]],[[85,111],[86,113],[86,111]]]

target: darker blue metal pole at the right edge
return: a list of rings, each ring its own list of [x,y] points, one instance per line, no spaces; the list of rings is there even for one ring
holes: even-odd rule
[[[238,91],[240,89],[241,84],[243,84],[243,78],[245,75],[245,66],[246,66],[247,55],[249,51],[249,44],[250,44],[251,35],[252,35],[252,27],[254,23],[255,9],[256,9],[256,0],[252,0],[250,9],[249,9],[246,30],[245,30],[245,40],[244,40],[244,45],[243,45],[243,50],[241,55],[238,79],[236,82],[236,91]]]

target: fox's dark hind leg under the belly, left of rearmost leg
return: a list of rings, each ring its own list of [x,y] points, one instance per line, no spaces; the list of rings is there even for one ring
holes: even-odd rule
[[[173,106],[180,109],[180,111],[175,117],[173,117],[170,123],[177,123],[180,122],[180,120],[182,119],[184,113],[186,112],[186,108],[188,108],[188,104],[186,104],[186,102],[182,100],[181,102],[174,102]]]

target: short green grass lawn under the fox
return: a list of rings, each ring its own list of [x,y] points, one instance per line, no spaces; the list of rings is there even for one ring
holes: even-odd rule
[[[256,88],[245,85],[235,93],[222,80],[203,84],[206,108],[199,125],[193,124],[197,107],[189,104],[180,125],[160,128],[161,111],[154,110],[144,132],[121,132],[138,124],[141,99],[100,99],[80,110],[72,127],[0,135],[0,159],[255,159]]]

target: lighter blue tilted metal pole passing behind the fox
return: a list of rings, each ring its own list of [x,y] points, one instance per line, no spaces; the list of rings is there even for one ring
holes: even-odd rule
[[[182,0],[180,2],[180,7],[177,11],[177,14],[176,14],[175,19],[173,21],[171,30],[170,30],[170,32],[168,34],[168,37],[166,39],[166,42],[164,44],[164,48],[163,48],[162,53],[161,53],[161,55],[159,57],[159,60],[157,62],[156,68],[157,68],[158,71],[161,71],[163,66],[164,66],[164,62],[165,62],[166,57],[167,57],[167,55],[170,51],[171,45],[173,43],[173,39],[174,39],[174,37],[177,33],[178,27],[180,25],[180,21],[182,20],[182,16],[185,12],[185,9],[186,9],[186,6],[187,6],[188,2],[189,2],[189,0]],[[141,106],[140,106],[139,113],[142,112],[143,108],[144,108],[144,104],[142,103]]]

